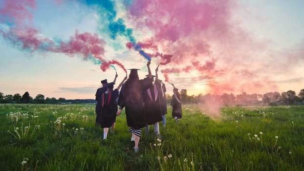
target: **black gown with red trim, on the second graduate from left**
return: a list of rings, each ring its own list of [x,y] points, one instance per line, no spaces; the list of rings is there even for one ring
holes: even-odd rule
[[[98,123],[100,123],[101,128],[109,128],[116,120],[116,113],[118,109],[116,99],[118,98],[118,90],[115,89],[110,93],[105,92],[101,98],[102,98],[101,118],[98,121]]]

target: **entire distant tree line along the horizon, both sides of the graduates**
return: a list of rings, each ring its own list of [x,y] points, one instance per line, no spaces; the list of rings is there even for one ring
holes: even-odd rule
[[[168,104],[171,103],[172,95],[167,94]],[[180,96],[182,104],[205,104],[215,102],[223,106],[231,105],[253,105],[253,104],[268,104],[268,105],[294,105],[304,104],[304,89],[300,90],[298,94],[295,91],[288,90],[287,92],[268,92],[265,94],[247,94],[242,92],[241,94],[234,95],[233,93],[222,95],[215,94],[198,94],[187,95],[186,89],[181,89]],[[75,99],[66,100],[65,98],[56,99],[54,97],[44,97],[42,94],[36,95],[32,98],[26,91],[22,96],[17,93],[15,95],[4,95],[0,92],[0,103],[21,103],[21,104],[84,104],[95,103],[94,99]]]

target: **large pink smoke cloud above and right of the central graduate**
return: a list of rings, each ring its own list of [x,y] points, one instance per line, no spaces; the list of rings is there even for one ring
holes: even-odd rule
[[[227,32],[230,5],[229,0],[133,0],[127,9],[137,27],[154,33],[141,43],[142,48],[152,50],[150,56],[160,57],[161,65],[170,64],[161,70],[168,78],[170,73],[215,68],[217,60],[210,58],[210,45],[204,35],[215,30],[217,35]],[[165,53],[158,52],[158,47]],[[206,60],[209,62],[204,64]]]

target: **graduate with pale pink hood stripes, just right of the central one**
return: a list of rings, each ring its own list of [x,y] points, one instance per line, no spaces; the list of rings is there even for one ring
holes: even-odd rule
[[[152,82],[154,77],[157,77],[158,66],[155,69],[155,75],[152,75]],[[149,75],[146,75],[149,76]],[[158,77],[157,77],[158,79]],[[149,125],[154,126],[154,133],[157,139],[160,139],[159,124],[162,121],[161,109],[160,109],[160,99],[159,99],[159,89],[161,87],[157,84],[152,84],[147,90],[143,92],[143,100],[145,105],[145,115],[146,115],[146,133],[149,134]]]

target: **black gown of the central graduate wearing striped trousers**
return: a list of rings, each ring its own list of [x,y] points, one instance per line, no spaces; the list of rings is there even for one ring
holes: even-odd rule
[[[144,102],[142,99],[143,90],[149,88],[152,85],[152,82],[149,78],[138,81],[137,92],[139,94],[139,100],[135,101],[126,96],[125,84],[121,87],[119,93],[118,105],[120,107],[125,107],[127,125],[131,128],[140,129],[146,127],[146,117],[144,113]]]

